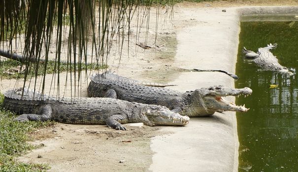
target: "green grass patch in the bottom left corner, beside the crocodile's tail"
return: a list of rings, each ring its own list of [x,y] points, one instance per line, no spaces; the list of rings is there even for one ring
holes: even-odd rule
[[[0,172],[43,172],[46,164],[27,164],[16,161],[16,157],[35,148],[28,134],[37,128],[54,125],[54,122],[17,122],[15,114],[2,108],[3,95],[0,93]]]

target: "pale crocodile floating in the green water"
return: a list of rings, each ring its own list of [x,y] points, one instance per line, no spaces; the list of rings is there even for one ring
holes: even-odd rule
[[[247,50],[243,47],[242,53],[246,58],[252,59],[263,70],[276,71],[281,74],[292,76],[293,73],[289,71],[287,67],[282,66],[278,63],[278,59],[274,56],[270,50],[275,48],[277,44],[268,44],[267,47],[259,48],[258,52],[255,53],[251,50]]]

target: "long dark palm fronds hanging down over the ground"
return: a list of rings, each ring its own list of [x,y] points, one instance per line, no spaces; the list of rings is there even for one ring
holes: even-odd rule
[[[133,15],[141,29],[148,26],[151,6],[163,3],[172,5],[169,0],[0,0],[0,49],[8,51],[7,57],[21,50],[25,66],[21,85],[42,93],[51,82],[52,94],[60,95],[61,66],[66,65],[72,96],[78,96],[82,71],[89,75],[85,66],[106,65],[114,38],[121,57]],[[46,75],[49,61],[54,61],[51,79]]]

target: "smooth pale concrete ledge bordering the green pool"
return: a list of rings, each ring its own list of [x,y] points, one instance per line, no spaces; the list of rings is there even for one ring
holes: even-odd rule
[[[177,9],[177,8],[176,8]],[[178,8],[175,15],[193,21],[177,31],[175,61],[181,68],[221,69],[235,72],[241,15],[290,14],[298,7]],[[183,17],[181,17],[183,16]],[[183,21],[175,21],[181,23]],[[234,80],[217,72],[182,73],[173,82],[180,91],[224,85],[234,87]],[[234,97],[231,97],[234,101]],[[150,166],[154,172],[237,172],[238,136],[235,113],[216,113],[210,117],[191,118],[185,127],[164,127],[173,134],[152,139],[156,152]]]

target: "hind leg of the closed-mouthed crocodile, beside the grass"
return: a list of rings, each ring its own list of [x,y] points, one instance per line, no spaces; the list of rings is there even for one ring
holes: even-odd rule
[[[16,121],[25,122],[25,121],[46,121],[51,119],[52,116],[52,107],[49,105],[43,106],[39,109],[38,114],[22,114],[14,118]]]

